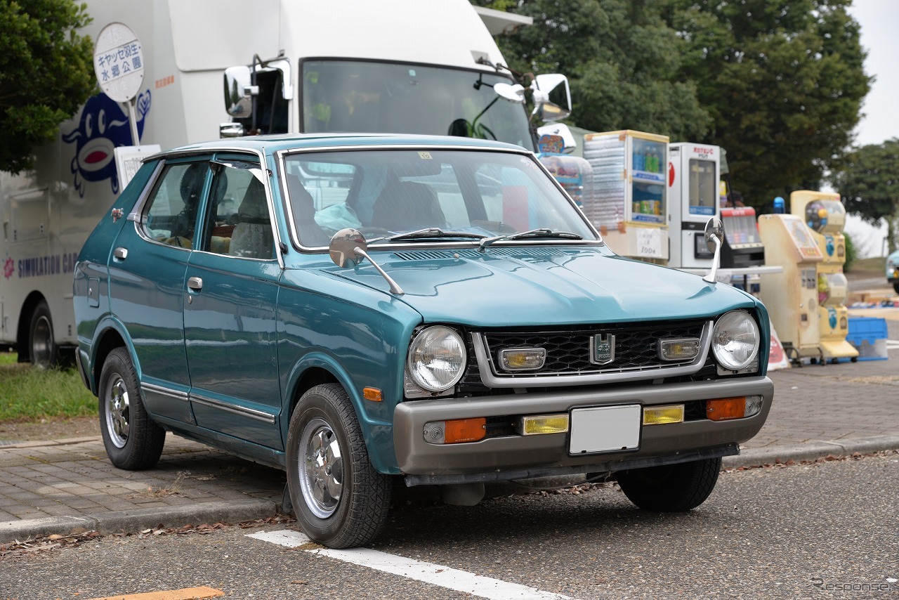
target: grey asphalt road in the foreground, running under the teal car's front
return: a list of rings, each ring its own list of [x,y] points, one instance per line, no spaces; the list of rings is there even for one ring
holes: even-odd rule
[[[474,597],[527,597],[521,588],[499,596],[494,580],[534,588],[531,597],[896,597],[897,481],[899,453],[890,452],[725,472],[704,505],[681,515],[641,512],[614,486],[475,507],[407,497],[371,549],[433,563],[432,573],[476,574]],[[0,560],[0,598],[197,586],[227,598],[473,597],[324,556],[315,546],[247,537],[289,528],[296,526],[15,551]]]

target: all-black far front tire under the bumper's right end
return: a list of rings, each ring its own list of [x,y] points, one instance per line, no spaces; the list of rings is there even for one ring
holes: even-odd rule
[[[624,470],[618,473],[621,491],[644,510],[679,513],[706,501],[715,489],[721,459]]]

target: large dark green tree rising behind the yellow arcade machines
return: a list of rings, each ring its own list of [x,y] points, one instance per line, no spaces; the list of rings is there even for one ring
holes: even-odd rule
[[[697,85],[747,204],[817,189],[849,150],[871,78],[851,0],[666,0],[690,46],[677,77]]]

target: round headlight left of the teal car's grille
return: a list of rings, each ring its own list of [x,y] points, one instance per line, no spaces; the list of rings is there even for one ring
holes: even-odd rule
[[[465,372],[465,344],[449,327],[422,329],[409,346],[406,365],[415,384],[429,391],[456,385]]]

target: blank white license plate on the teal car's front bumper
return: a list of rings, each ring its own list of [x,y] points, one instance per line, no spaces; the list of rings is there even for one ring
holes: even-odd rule
[[[639,404],[620,407],[574,408],[571,411],[569,452],[636,450],[640,445]]]

